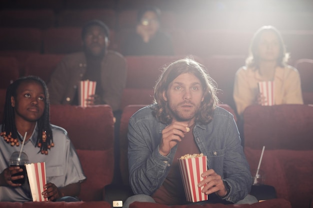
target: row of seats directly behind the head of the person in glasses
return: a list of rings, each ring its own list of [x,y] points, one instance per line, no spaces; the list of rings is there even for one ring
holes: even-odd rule
[[[186,9],[174,11],[164,9],[161,15],[163,28],[214,28],[256,30],[262,25],[271,24],[280,30],[308,30],[313,24],[307,19],[313,17],[313,12],[286,11],[251,11],[251,10],[213,10]],[[197,15],[194,15],[197,14]],[[134,28],[137,8],[83,8],[60,10],[53,9],[2,9],[0,10],[1,27],[34,27],[46,29],[49,27],[78,26],[81,27],[90,19],[100,19],[111,29]],[[245,21],[249,17],[250,21]]]

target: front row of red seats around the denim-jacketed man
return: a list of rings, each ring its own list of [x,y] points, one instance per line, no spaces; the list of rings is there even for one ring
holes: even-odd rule
[[[128,186],[127,131],[128,120],[144,105],[123,109],[119,128],[120,184]],[[228,105],[219,104],[236,117]],[[250,106],[244,111],[244,153],[251,173],[256,169],[262,146],[265,146],[260,170],[265,184],[273,186],[277,198],[291,202],[294,208],[309,208],[313,199],[313,107],[308,105]],[[113,115],[108,105],[79,107],[51,105],[52,124],[67,130],[76,148],[87,180],[82,183],[80,199],[85,202],[124,201],[125,190],[109,192],[112,186],[114,160]],[[53,150],[51,150],[53,151]],[[105,189],[104,189],[105,188]],[[130,192],[131,194],[131,192]],[[115,198],[114,198],[115,197]],[[117,199],[116,199],[117,197]]]

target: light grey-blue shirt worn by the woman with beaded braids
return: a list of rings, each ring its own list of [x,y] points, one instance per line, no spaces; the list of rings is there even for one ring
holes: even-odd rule
[[[1,125],[0,125],[1,129]],[[86,179],[83,174],[77,153],[67,137],[67,132],[58,126],[51,125],[54,147],[48,150],[48,155],[39,152],[35,147],[38,128],[37,125],[31,137],[25,142],[23,152],[28,156],[29,163],[45,162],[46,181],[56,187],[65,187],[69,184],[82,182]],[[27,132],[28,133],[28,132]],[[21,135],[20,135],[21,136]],[[21,136],[23,139],[23,136]],[[7,144],[0,137],[0,173],[9,167],[9,157],[18,147]],[[0,202],[27,202],[32,201],[27,180],[21,187],[0,187]]]

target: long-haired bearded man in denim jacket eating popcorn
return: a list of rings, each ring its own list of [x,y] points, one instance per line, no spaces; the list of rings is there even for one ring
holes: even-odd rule
[[[254,203],[252,177],[233,116],[216,106],[213,80],[186,58],[171,63],[154,88],[154,104],[129,120],[129,183],[126,200],[165,205],[187,204],[177,158],[203,153],[207,171],[197,184],[203,203]],[[189,130],[189,131],[188,131]]]

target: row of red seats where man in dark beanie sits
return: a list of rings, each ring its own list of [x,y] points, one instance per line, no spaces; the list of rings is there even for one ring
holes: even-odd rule
[[[49,78],[63,54],[10,53],[0,56],[0,88],[24,75],[36,75],[45,82]],[[153,100],[153,86],[165,65],[185,57],[180,56],[125,56],[127,77],[120,108],[130,104],[150,104]],[[209,56],[206,59],[193,57],[204,65],[208,74],[217,84],[217,96],[221,103],[235,109],[232,99],[236,70],[244,65],[244,56]],[[301,78],[305,104],[313,104],[313,60],[299,59],[294,65]]]

